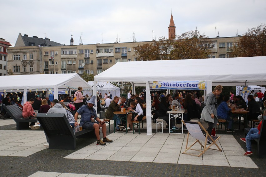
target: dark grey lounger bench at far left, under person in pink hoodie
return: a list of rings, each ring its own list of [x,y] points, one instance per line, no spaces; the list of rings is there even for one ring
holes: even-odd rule
[[[17,123],[17,130],[28,129],[29,122],[37,122],[37,119],[25,119],[22,117],[22,111],[16,105],[4,106],[7,113]]]

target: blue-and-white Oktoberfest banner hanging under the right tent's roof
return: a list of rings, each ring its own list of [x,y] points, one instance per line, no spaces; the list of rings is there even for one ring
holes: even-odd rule
[[[205,90],[206,81],[154,81],[153,89]]]

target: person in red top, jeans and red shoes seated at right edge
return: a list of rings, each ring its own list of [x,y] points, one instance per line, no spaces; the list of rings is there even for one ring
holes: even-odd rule
[[[266,110],[263,112],[263,116],[266,116]],[[240,138],[241,141],[244,141],[247,144],[247,152],[244,154],[244,156],[249,156],[252,154],[251,151],[251,140],[259,138],[259,132],[261,127],[262,121],[259,122],[258,129],[257,128],[251,128],[246,136],[246,138]]]

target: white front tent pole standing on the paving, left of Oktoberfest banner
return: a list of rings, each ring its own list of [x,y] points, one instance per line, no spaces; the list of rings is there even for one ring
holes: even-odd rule
[[[147,135],[151,135],[151,97],[150,97],[150,84],[146,82],[146,120],[147,120]]]

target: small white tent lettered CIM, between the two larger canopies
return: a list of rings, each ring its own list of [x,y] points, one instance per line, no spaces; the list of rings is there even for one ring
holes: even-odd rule
[[[93,88],[93,81],[88,81],[88,84]],[[112,94],[112,98],[115,96],[120,97],[120,88],[110,82],[96,82],[96,89],[102,93],[103,98],[105,93],[108,95],[108,92]],[[84,91],[84,94],[92,95],[92,90]]]

